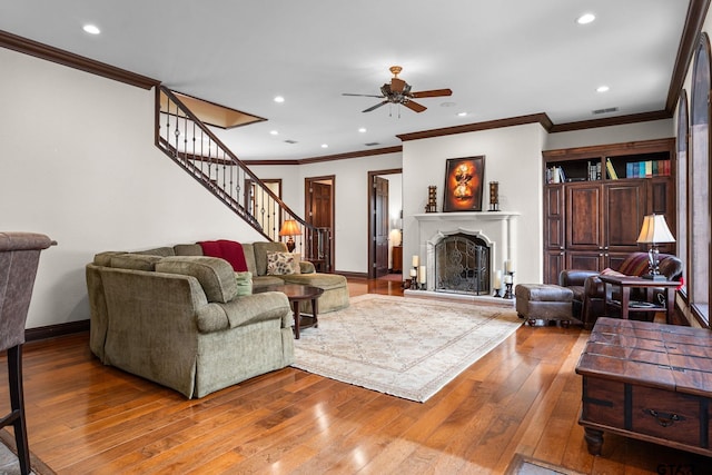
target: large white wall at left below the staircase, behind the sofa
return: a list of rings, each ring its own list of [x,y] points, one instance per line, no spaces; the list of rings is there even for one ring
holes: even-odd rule
[[[58,241],[28,328],[89,318],[98,251],[261,239],[154,146],[154,91],[3,48],[0,65],[0,229]]]

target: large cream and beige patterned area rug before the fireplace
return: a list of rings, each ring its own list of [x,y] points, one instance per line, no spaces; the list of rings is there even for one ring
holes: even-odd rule
[[[425,402],[521,325],[511,308],[367,294],[301,330],[293,366]]]

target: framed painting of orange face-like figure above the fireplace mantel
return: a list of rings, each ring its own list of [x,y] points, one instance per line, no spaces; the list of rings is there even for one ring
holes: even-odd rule
[[[485,157],[448,158],[445,168],[443,212],[482,211]]]

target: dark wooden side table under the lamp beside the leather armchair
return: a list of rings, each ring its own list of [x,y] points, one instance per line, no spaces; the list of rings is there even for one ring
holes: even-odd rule
[[[620,308],[621,318],[627,319],[630,311],[665,311],[665,323],[672,324],[672,315],[675,308],[675,288],[680,285],[673,280],[651,280],[642,277],[634,276],[599,276],[602,283],[606,286],[605,291],[605,309],[606,315],[610,315],[610,308]],[[614,300],[611,298],[609,286],[619,287],[621,291],[621,299]],[[631,289],[643,288],[645,289],[645,301],[631,300]],[[662,289],[665,296],[664,301],[656,303],[653,300],[653,294],[655,289]]]

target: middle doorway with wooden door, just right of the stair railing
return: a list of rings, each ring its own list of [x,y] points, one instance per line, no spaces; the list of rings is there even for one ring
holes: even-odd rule
[[[328,243],[319,241],[320,234],[307,234],[307,239],[310,240],[307,248],[315,249],[317,253],[313,253],[314,256],[305,256],[305,259],[312,261],[317,271],[322,273],[330,273],[335,268],[335,175],[304,179],[305,220],[314,227],[328,229]]]

